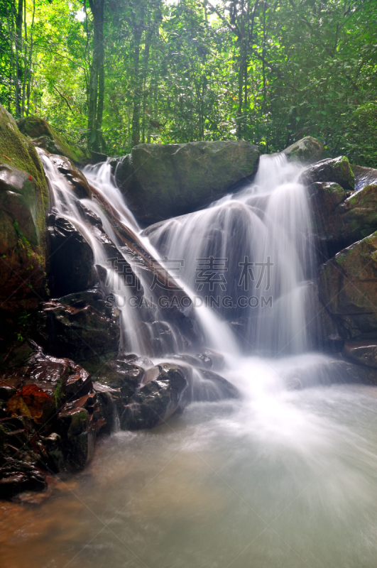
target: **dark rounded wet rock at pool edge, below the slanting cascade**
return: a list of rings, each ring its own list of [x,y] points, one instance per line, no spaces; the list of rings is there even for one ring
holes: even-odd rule
[[[157,378],[141,387],[119,415],[124,430],[153,428],[185,405],[185,369],[173,364],[158,365]]]

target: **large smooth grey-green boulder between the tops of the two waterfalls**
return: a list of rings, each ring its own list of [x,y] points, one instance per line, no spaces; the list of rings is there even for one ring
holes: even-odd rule
[[[140,144],[116,166],[116,182],[136,217],[151,224],[192,212],[250,178],[256,146],[245,141]]]

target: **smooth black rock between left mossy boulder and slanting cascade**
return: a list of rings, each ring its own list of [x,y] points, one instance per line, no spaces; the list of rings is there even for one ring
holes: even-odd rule
[[[80,292],[94,285],[94,255],[82,234],[65,217],[50,214],[50,290],[53,297]]]

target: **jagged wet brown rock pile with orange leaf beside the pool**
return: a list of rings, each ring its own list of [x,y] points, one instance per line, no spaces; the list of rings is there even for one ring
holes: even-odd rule
[[[0,373],[0,498],[44,489],[46,472],[82,469],[106,426],[87,371],[22,348],[23,365]]]

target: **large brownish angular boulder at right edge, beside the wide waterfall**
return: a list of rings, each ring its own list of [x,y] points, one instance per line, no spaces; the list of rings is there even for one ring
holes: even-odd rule
[[[319,295],[344,339],[377,338],[377,232],[322,265]]]

